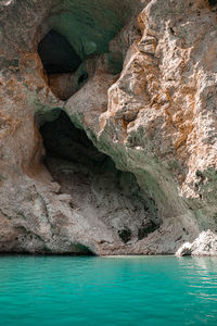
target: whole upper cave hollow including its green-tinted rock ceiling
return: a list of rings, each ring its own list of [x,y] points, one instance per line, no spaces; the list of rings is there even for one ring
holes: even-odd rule
[[[69,99],[97,70],[122,72],[122,38],[111,41],[131,14],[130,7],[115,0],[62,1],[52,9],[38,33],[37,51],[56,98]]]

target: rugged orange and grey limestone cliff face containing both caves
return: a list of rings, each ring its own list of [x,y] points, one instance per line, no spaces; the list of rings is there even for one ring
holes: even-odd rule
[[[216,10],[0,1],[1,252],[217,253]]]

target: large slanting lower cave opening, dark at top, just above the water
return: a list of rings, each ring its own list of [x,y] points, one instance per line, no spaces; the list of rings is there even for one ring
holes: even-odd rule
[[[105,234],[112,231],[123,243],[155,231],[161,221],[135,175],[117,170],[63,110],[55,111],[55,117],[39,129],[46,149],[43,164],[61,192],[72,196],[73,210],[90,221],[95,230],[102,229],[103,223]]]

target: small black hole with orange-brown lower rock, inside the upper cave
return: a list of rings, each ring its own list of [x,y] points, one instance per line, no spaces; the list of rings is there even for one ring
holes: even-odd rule
[[[38,53],[56,98],[65,101],[87,83],[88,73],[79,70],[82,60],[67,39],[54,29],[39,42]]]

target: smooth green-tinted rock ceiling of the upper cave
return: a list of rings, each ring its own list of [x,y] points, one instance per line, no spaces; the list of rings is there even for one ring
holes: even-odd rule
[[[102,1],[99,5],[98,1],[64,1],[52,10],[48,23],[67,39],[81,60],[93,53],[105,53],[128,15],[127,11],[123,14],[116,10],[117,4],[113,2]]]

